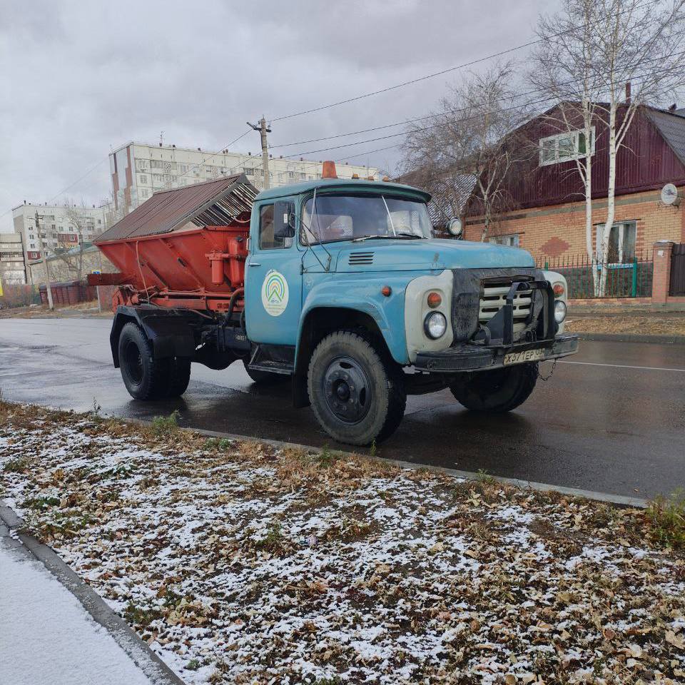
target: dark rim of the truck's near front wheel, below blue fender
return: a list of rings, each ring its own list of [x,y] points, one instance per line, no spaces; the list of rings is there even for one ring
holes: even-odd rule
[[[371,407],[371,384],[352,357],[336,357],[323,375],[323,395],[330,412],[342,423],[359,423]]]

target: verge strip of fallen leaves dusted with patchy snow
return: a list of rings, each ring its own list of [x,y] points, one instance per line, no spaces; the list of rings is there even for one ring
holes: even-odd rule
[[[4,497],[189,683],[685,680],[639,512],[22,411]]]

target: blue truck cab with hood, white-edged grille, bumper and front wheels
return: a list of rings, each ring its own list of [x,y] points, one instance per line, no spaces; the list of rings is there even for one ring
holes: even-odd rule
[[[339,442],[390,435],[407,393],[472,410],[523,402],[539,361],[572,354],[566,283],[525,250],[432,235],[427,193],[323,178],[263,191],[245,263],[250,368],[293,379]]]

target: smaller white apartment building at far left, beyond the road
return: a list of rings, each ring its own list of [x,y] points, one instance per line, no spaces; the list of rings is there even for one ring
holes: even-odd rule
[[[58,248],[76,247],[79,242],[90,242],[105,230],[110,217],[109,205],[101,207],[34,205],[24,203],[12,209],[14,233],[23,237],[26,263],[41,258]],[[36,228],[36,213],[39,228]],[[80,238],[80,240],[79,240]]]

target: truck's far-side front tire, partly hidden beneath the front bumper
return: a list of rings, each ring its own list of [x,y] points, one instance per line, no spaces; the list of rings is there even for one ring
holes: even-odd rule
[[[537,362],[462,374],[450,385],[455,400],[474,412],[510,412],[537,382]]]

